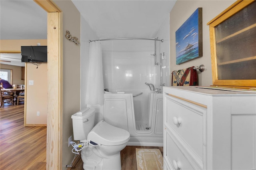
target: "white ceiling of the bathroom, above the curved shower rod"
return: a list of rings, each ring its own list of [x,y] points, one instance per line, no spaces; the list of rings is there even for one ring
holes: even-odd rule
[[[176,0],[72,0],[100,39],[155,38]]]

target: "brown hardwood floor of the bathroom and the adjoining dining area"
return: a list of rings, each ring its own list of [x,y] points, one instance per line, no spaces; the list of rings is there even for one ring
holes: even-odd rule
[[[24,127],[24,104],[4,104],[0,108],[0,169],[45,170],[46,127]],[[121,151],[122,170],[136,170],[135,148],[154,146],[126,146]],[[72,153],[70,153],[72,154]],[[68,170],[83,170],[82,159]]]

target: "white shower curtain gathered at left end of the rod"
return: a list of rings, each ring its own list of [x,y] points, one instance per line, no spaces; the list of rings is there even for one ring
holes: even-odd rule
[[[102,51],[100,41],[90,42],[88,79],[85,102],[88,105],[104,104],[104,83],[102,71]]]

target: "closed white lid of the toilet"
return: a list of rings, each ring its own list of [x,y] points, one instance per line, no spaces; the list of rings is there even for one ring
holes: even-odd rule
[[[88,141],[107,146],[124,144],[129,139],[130,133],[127,130],[109,125],[105,121],[100,121],[87,136]]]

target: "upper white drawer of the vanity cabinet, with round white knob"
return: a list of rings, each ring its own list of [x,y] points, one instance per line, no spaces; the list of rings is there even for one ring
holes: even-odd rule
[[[180,99],[167,99],[166,123],[190,148],[203,157],[206,109]]]

